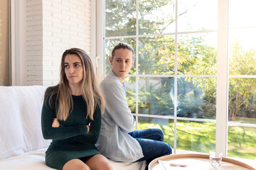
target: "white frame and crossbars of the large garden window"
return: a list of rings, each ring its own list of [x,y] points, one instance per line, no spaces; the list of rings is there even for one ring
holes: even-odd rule
[[[137,0],[139,4],[139,0]],[[176,3],[177,4],[177,3]],[[104,1],[96,1],[96,10],[97,10],[97,28],[96,28],[96,65],[97,65],[97,77],[102,79],[104,77],[104,42],[105,42],[105,33],[104,33]],[[137,11],[139,7],[137,6]],[[138,12],[137,12],[138,13]],[[137,17],[138,18],[138,17]],[[145,35],[139,35],[139,22],[137,19],[137,34],[132,36],[122,36],[122,38],[136,38],[137,44],[139,46],[139,38],[142,38]],[[177,32],[174,34],[177,37]],[[148,35],[146,35],[148,36]],[[121,38],[121,37],[115,37]],[[109,38],[111,39],[111,38]],[[138,49],[138,48],[137,48]],[[217,79],[217,97],[216,97],[216,119],[215,120],[206,120],[198,118],[180,118],[176,114],[174,116],[162,116],[162,115],[151,115],[152,118],[166,118],[174,120],[174,154],[176,153],[176,123],[177,120],[192,120],[192,121],[202,121],[202,122],[213,122],[216,123],[216,135],[215,135],[215,149],[218,152],[223,152],[223,156],[228,156],[228,126],[240,125],[245,127],[256,128],[255,124],[246,124],[246,123],[230,123],[228,122],[228,79],[233,77],[239,78],[256,78],[256,76],[230,76],[228,74],[228,0],[218,0],[218,48],[217,48],[217,74],[213,75]],[[138,50],[136,51],[136,57],[138,56]],[[177,66],[177,63],[176,63]],[[136,63],[136,70],[138,70],[138,62]],[[137,71],[138,72],[138,71]],[[130,75],[131,77],[142,76],[139,74]],[[143,75],[144,77],[151,77],[150,75]],[[155,77],[155,76],[154,76]],[[157,76],[161,77],[161,76]],[[164,75],[163,75],[164,77]],[[171,77],[174,77],[175,82],[177,82],[178,77],[177,72]],[[188,75],[186,75],[188,77]],[[191,76],[193,77],[193,76]],[[196,76],[198,77],[198,76]],[[203,76],[202,76],[203,77]],[[175,83],[176,84],[176,83]],[[136,83],[138,89],[138,81]],[[175,86],[177,91],[177,86]],[[175,93],[176,94],[176,93]],[[174,112],[176,112],[176,103],[174,103]],[[139,114],[138,113],[138,93],[136,94],[136,113],[134,113],[136,122],[138,123],[139,117],[148,117],[149,115]],[[136,124],[137,127],[137,124]]]

